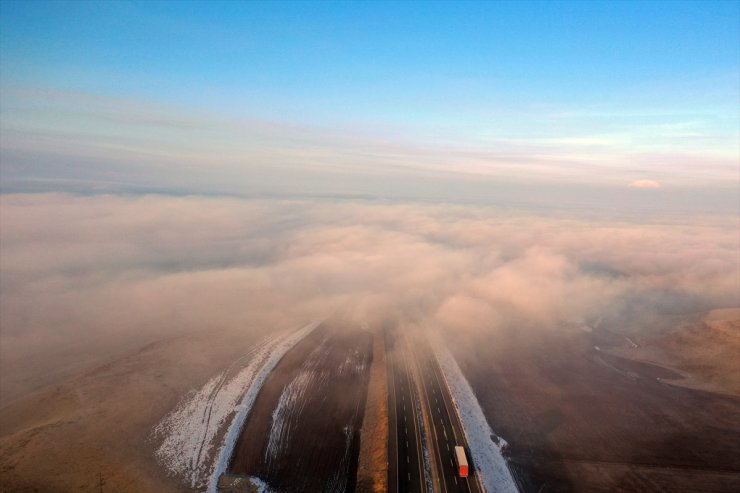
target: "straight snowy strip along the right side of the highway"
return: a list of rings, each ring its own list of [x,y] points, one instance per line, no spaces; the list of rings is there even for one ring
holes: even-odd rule
[[[438,341],[435,342],[437,343],[433,344],[434,353],[460,414],[465,438],[470,446],[470,455],[483,487],[488,493],[517,493],[516,483],[501,453],[506,441],[499,438],[500,445],[497,445],[491,439],[494,433],[465,375],[447,348]]]

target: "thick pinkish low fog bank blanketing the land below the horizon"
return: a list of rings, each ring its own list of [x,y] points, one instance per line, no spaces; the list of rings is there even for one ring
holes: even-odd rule
[[[333,314],[558,330],[740,304],[736,217],[63,194],[5,195],[0,214],[2,374],[15,393],[54,365],[199,330]]]

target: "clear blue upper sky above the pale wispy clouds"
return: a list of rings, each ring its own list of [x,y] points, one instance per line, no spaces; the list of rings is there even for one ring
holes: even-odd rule
[[[715,89],[730,89],[739,9],[732,1],[4,2],[3,72],[221,108],[318,99],[357,118],[372,103],[443,107],[441,98],[672,103],[702,84],[724,79]],[[677,78],[683,84],[670,83]],[[644,94],[653,84],[662,87]],[[697,104],[712,99],[696,95]]]

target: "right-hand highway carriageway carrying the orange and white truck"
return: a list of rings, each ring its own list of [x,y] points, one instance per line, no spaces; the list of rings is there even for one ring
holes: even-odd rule
[[[482,493],[474,470],[471,470],[468,478],[461,478],[458,475],[454,455],[455,446],[465,447],[469,463],[471,462],[470,449],[437,359],[425,341],[415,344],[414,348],[426,394],[426,411],[432,428],[430,435],[435,442],[435,446],[432,447],[434,460],[436,469],[441,475],[439,490],[445,493]],[[472,463],[471,468],[474,469]]]

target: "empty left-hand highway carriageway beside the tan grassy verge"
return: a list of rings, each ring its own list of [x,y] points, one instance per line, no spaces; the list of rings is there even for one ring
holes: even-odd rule
[[[388,368],[388,491],[389,493],[422,493],[424,481],[420,423],[414,409],[414,384],[407,358],[396,334],[385,331]]]

